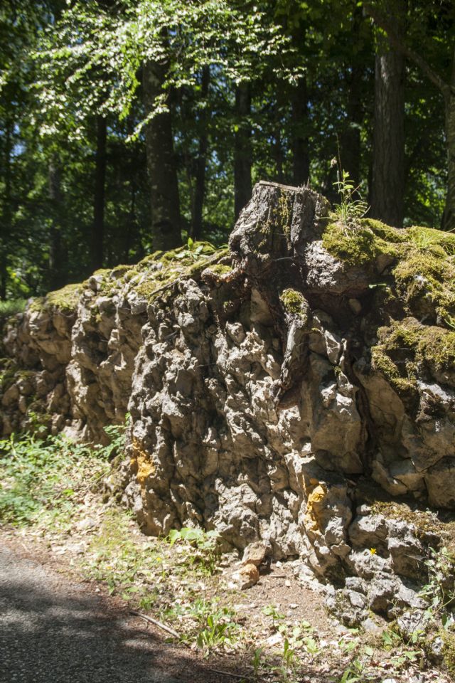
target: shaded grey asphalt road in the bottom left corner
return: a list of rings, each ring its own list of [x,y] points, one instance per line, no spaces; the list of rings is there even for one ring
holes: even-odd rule
[[[107,598],[0,541],[1,683],[218,683]],[[232,680],[232,679],[231,679]]]

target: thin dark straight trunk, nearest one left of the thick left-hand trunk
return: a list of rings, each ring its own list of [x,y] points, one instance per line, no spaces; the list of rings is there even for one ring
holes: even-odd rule
[[[95,195],[93,197],[93,228],[91,244],[92,270],[102,268],[105,234],[105,185],[107,123],[97,116],[97,149],[95,155]]]

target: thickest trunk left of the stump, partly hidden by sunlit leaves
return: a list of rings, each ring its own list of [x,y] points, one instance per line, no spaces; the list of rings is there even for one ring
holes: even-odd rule
[[[146,62],[143,69],[144,105],[148,114],[162,94],[166,66]],[[171,112],[156,115],[145,128],[151,196],[151,236],[155,249],[181,244],[180,201],[173,152]]]

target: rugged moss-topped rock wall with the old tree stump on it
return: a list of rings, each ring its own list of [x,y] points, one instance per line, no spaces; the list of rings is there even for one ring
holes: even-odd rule
[[[354,623],[419,606],[426,548],[451,542],[451,513],[420,511],[455,509],[455,238],[329,211],[261,183],[229,251],[97,272],[77,311],[35,302],[6,336],[1,419],[100,440],[129,411],[144,531],[263,539]]]

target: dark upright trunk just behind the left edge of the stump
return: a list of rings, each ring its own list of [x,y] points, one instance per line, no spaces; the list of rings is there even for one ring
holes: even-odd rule
[[[235,217],[250,201],[251,186],[251,128],[248,117],[251,114],[250,83],[240,83],[235,89],[235,115],[237,132],[234,139],[234,211]]]

